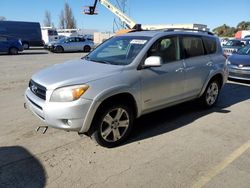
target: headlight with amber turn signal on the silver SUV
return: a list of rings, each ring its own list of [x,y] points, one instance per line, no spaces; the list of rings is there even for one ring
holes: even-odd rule
[[[53,91],[51,102],[71,102],[79,99],[89,88],[88,85],[77,85],[58,88]]]

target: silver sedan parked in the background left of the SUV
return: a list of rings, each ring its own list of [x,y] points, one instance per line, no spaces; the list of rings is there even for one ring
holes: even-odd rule
[[[48,49],[56,53],[73,51],[90,52],[93,46],[93,41],[86,40],[83,37],[65,37],[54,43],[50,43]]]

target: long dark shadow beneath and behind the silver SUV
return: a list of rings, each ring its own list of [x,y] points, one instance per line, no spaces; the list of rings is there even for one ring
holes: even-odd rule
[[[250,86],[227,83],[221,90],[215,107],[203,109],[198,101],[190,101],[140,117],[136,120],[130,139],[137,142],[179,129],[210,113],[230,113],[227,107],[250,99]]]

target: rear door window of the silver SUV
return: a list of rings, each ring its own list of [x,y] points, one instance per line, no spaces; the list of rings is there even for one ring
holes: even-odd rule
[[[199,37],[183,37],[182,51],[184,58],[204,55],[202,39]]]

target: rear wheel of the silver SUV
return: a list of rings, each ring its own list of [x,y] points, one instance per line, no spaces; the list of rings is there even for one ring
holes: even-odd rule
[[[204,107],[211,108],[217,103],[220,94],[220,88],[220,84],[217,80],[211,80],[208,83],[206,90],[200,98]]]

